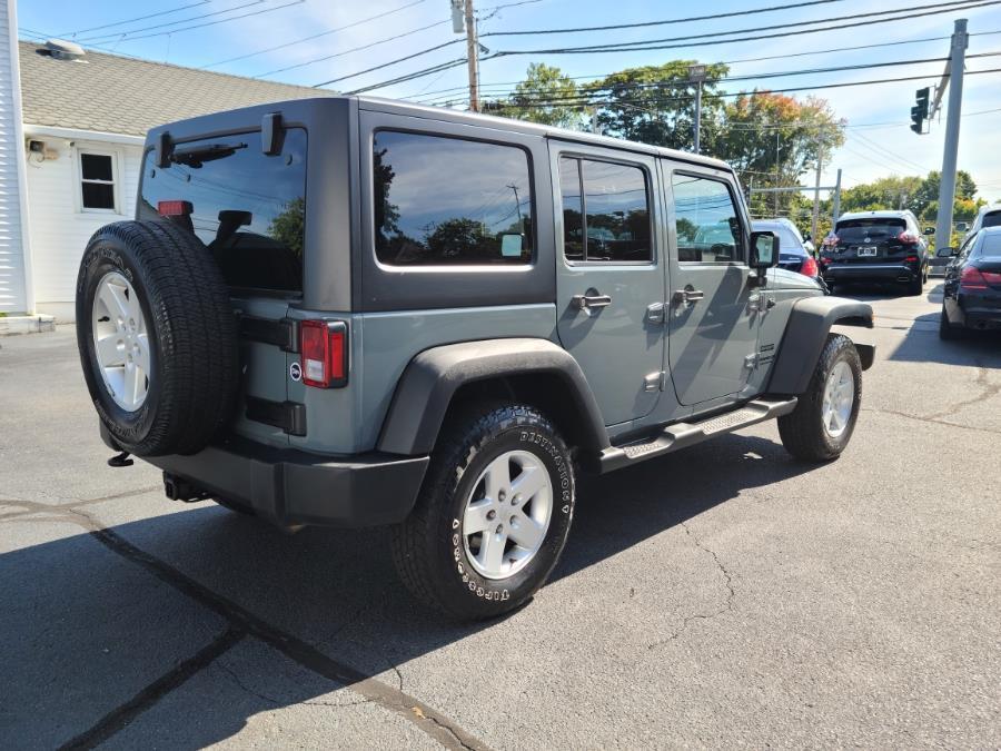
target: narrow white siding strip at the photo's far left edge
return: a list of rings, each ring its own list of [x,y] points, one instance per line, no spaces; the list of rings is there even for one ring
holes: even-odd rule
[[[0,314],[26,313],[28,295],[21,211],[24,186],[18,179],[20,107],[11,55],[12,0],[0,0]]]

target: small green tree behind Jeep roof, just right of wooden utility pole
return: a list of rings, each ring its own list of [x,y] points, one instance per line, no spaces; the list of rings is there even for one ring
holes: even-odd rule
[[[516,120],[577,128],[584,112],[578,97],[577,85],[559,68],[533,62],[528,66],[525,80],[515,87],[509,98],[486,102],[484,110]]]

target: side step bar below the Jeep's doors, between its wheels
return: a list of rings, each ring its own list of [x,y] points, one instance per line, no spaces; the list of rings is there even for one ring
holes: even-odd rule
[[[776,401],[754,399],[740,409],[726,412],[698,423],[674,423],[653,438],[624,446],[612,446],[603,451],[599,458],[601,473],[620,470],[654,456],[663,456],[724,433],[733,433],[766,419],[781,417],[795,408],[796,397],[794,396]]]

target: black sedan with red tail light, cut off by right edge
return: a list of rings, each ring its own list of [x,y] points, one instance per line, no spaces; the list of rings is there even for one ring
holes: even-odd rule
[[[935,255],[953,257],[945,269],[939,336],[1001,329],[1001,227],[981,229],[959,249],[942,248]]]

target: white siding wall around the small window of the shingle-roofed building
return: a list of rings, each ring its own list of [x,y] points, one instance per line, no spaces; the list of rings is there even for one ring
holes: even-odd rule
[[[30,130],[30,126],[29,126]],[[87,241],[111,221],[131,219],[142,147],[31,136],[46,142],[54,159],[28,162],[31,257],[36,307],[59,320],[70,319],[77,271]],[[80,154],[113,155],[115,210],[85,209],[81,201]]]

